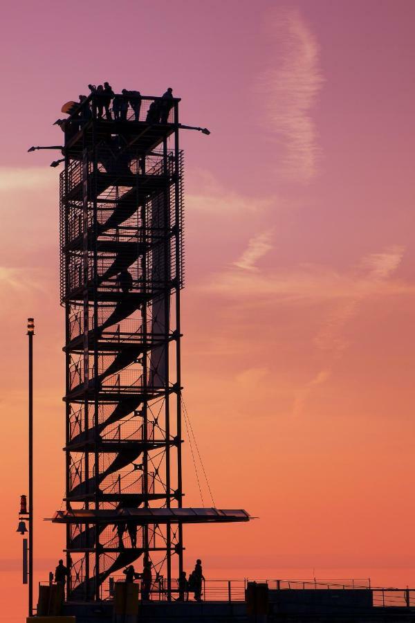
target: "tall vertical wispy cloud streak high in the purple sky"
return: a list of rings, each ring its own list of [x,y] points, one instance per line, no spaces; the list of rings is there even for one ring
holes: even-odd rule
[[[322,88],[320,48],[297,9],[270,10],[267,28],[275,66],[265,69],[258,91],[270,129],[284,143],[284,174],[310,181],[318,172],[321,149],[311,111]]]

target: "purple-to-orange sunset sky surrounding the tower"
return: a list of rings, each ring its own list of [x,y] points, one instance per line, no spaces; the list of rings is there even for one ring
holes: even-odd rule
[[[1,10],[1,558],[20,601],[26,318],[35,316],[39,579],[64,529],[59,144],[67,100],[181,97],[183,384],[217,507],[206,577],[415,586],[415,3],[15,1]],[[185,449],[185,504],[201,500]],[[207,487],[205,504],[210,505]],[[329,571],[330,570],[330,571]],[[11,620],[11,619],[10,619]]]

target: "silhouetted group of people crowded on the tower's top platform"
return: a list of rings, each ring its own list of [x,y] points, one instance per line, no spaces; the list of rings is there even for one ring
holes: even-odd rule
[[[104,118],[105,114],[105,118],[109,121],[127,121],[128,111],[131,107],[134,114],[134,120],[140,120],[142,104],[140,91],[127,91],[127,89],[122,89],[120,94],[116,94],[114,93],[109,82],[104,82],[103,85],[98,84],[98,87],[96,87],[95,84],[89,84],[88,87],[91,93],[95,96],[98,119]],[[81,104],[86,99],[86,96],[80,95]],[[168,123],[169,114],[173,107],[173,89],[172,87],[169,87],[159,100],[151,102],[149,109],[147,110],[145,120],[147,123]],[[82,110],[82,116],[91,116],[91,109],[86,108]]]

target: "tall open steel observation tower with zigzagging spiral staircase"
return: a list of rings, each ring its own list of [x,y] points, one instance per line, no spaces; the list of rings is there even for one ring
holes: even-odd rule
[[[183,525],[249,519],[183,507],[179,102],[114,119],[93,93],[59,121],[68,600],[107,599],[135,561],[171,599]]]

